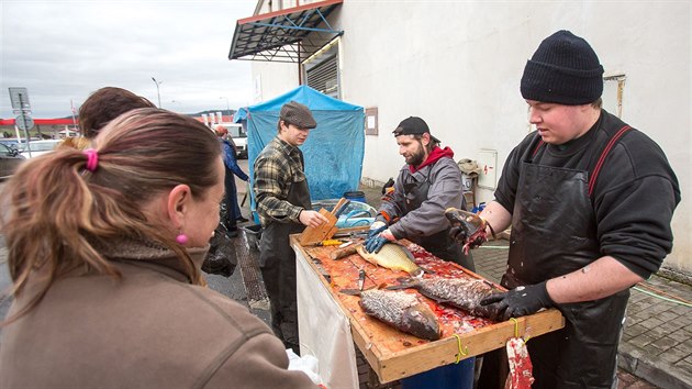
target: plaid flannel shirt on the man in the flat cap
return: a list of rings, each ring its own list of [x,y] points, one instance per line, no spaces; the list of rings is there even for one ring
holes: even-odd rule
[[[302,207],[287,201],[291,182],[303,173],[302,152],[278,136],[255,159],[253,192],[263,226],[271,222],[298,222]]]

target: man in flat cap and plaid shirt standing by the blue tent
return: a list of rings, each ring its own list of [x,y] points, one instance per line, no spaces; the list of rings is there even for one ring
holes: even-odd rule
[[[326,218],[311,210],[303,153],[298,148],[317,126],[308,107],[290,101],[281,107],[277,136],[255,159],[253,191],[263,226],[259,259],[271,302],[271,326],[287,348],[300,355],[295,296],[295,253],[289,234]]]

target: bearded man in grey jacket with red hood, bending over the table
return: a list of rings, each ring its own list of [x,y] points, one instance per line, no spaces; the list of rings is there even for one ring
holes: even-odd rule
[[[445,218],[449,207],[466,209],[454,152],[438,147],[439,141],[421,118],[404,119],[393,134],[406,165],[399,171],[393,193],[382,199],[366,249],[377,253],[387,242],[408,238],[440,259],[475,270],[472,258],[449,237]]]

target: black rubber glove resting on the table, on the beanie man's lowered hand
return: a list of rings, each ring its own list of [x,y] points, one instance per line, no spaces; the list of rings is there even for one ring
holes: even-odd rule
[[[480,301],[491,312],[491,319],[505,321],[536,313],[542,308],[555,305],[550,300],[546,281],[536,285],[516,287],[502,293],[492,293]]]

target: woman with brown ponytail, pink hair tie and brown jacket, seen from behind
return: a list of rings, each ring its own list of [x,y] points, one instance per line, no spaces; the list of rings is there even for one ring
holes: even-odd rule
[[[157,109],[24,164],[0,197],[14,297],[0,387],[312,386],[204,287],[223,177],[214,134]]]

